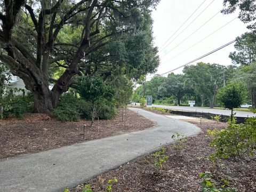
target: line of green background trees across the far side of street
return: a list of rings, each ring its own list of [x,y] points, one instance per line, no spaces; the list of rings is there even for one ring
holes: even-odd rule
[[[244,84],[244,102],[256,107],[256,35],[245,33],[244,38],[237,37],[236,51],[229,54],[234,65],[222,66],[215,63],[199,62],[186,66],[182,74],[171,73],[167,77],[154,76],[134,93],[134,101],[146,95],[153,95],[155,103],[188,105],[195,100],[197,106],[220,107],[217,93],[227,84],[237,82]],[[241,84],[241,86],[243,86]]]

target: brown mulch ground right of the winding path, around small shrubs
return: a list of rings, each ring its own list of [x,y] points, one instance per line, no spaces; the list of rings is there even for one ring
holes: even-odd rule
[[[228,159],[211,163],[209,155],[214,150],[209,147],[210,139],[206,138],[206,130],[214,127],[223,129],[226,123],[203,119],[202,125],[199,118],[187,120],[187,122],[201,127],[202,133],[188,138],[186,148],[182,155],[175,155],[172,145],[166,146],[166,155],[169,160],[163,165],[162,171],[153,167],[154,157],[148,154],[127,163],[116,170],[99,175],[97,178],[86,181],[77,186],[72,192],[82,191],[86,183],[90,183],[93,191],[107,191],[109,179],[117,178],[113,184],[113,192],[119,191],[202,191],[202,178],[199,173],[210,171],[213,174],[213,182],[223,185],[222,179],[227,180],[229,187],[235,187],[237,191],[256,191],[256,163],[246,163]]]

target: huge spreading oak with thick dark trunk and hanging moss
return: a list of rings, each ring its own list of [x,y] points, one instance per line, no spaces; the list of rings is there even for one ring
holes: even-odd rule
[[[157,3],[0,0],[0,61],[33,93],[35,112],[49,112],[77,75],[125,68],[137,78],[155,70],[150,7]]]

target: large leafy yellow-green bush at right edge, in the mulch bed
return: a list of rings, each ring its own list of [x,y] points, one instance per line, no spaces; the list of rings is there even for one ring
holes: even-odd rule
[[[246,120],[245,124],[229,121],[226,129],[207,131],[212,137],[211,147],[216,149],[218,158],[239,158],[245,161],[256,159],[256,117]]]

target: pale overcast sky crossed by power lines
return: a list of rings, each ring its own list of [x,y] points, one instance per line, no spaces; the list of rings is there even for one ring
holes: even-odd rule
[[[158,67],[157,74],[163,74],[191,60],[201,57],[202,55],[233,41],[237,36],[245,33],[245,31],[249,31],[246,29],[246,25],[243,22],[239,19],[235,19],[238,16],[238,13],[230,15],[218,13],[223,8],[222,2],[223,0],[161,0],[157,9],[154,10],[152,14],[154,20],[154,42],[155,45],[158,46],[158,54],[161,58],[161,64]],[[199,7],[201,4],[202,6]],[[177,31],[175,35],[173,35],[182,23],[185,22],[198,7],[199,9],[194,13],[194,15],[179,31]],[[204,9],[205,11],[200,14]],[[195,19],[198,15],[199,17]],[[214,15],[215,17],[213,17]],[[182,32],[182,30],[185,29],[194,19],[195,21]],[[211,20],[202,28],[198,29],[209,19]],[[194,31],[196,32],[194,33]],[[214,31],[216,32],[212,34]],[[210,34],[212,35],[209,36]],[[173,37],[163,46],[167,39],[172,35]],[[188,36],[190,37],[186,39]],[[204,41],[196,44],[205,37],[207,38],[204,39]],[[169,43],[170,45],[163,49]],[[194,44],[196,45],[193,46]],[[190,46],[193,47],[185,51]],[[218,52],[192,63],[192,65],[196,65],[196,63],[200,61],[206,63],[218,63],[220,65],[231,65],[231,60],[228,58],[228,55],[234,50],[234,44],[231,44]],[[178,56],[176,57],[176,55]],[[182,73],[182,68],[175,70],[174,73]]]

